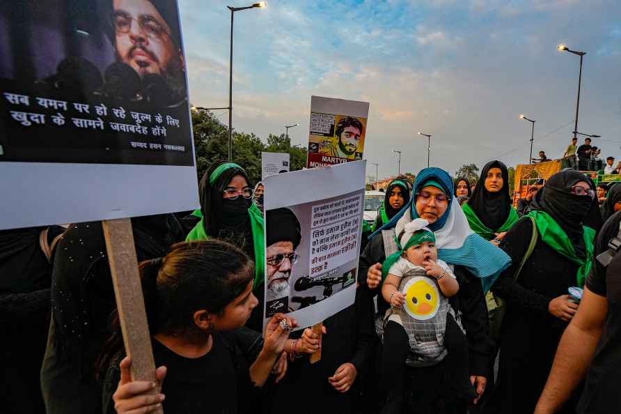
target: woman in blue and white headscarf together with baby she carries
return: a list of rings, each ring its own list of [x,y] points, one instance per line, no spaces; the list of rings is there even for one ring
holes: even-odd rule
[[[423,169],[407,208],[361,254],[361,283],[380,293],[382,413],[403,412],[410,392],[416,413],[465,413],[491,378],[484,291],[510,258],[471,231],[453,194],[446,171]]]

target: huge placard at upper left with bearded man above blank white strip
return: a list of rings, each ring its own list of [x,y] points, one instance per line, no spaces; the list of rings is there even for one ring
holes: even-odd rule
[[[198,205],[176,0],[3,2],[0,56],[0,229]]]

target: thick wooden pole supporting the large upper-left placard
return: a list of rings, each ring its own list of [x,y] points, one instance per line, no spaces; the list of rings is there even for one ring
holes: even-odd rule
[[[114,296],[125,353],[132,358],[132,381],[155,381],[155,361],[138,272],[132,222],[129,218],[102,221],[112,273]],[[159,387],[153,394],[159,392]],[[162,406],[153,413],[164,414]]]

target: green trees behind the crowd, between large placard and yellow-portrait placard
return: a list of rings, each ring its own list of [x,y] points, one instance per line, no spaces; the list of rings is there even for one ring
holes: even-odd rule
[[[200,180],[213,162],[228,159],[228,128],[210,111],[192,111],[196,170]],[[289,153],[290,170],[306,166],[306,147],[291,146],[284,134],[267,137],[267,144],[254,133],[233,130],[233,162],[244,167],[252,183],[261,179],[261,153]]]

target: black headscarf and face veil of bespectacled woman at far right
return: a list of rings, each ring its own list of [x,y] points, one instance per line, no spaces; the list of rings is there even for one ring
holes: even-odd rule
[[[585,181],[594,189],[592,181],[574,169],[564,169],[553,174],[544,187],[537,191],[530,210],[542,210],[560,226],[572,242],[579,257],[585,256],[582,226],[588,217],[593,199],[588,195],[572,194],[571,188],[579,181]],[[596,199],[597,201],[597,199]],[[596,229],[597,230],[597,229]]]

